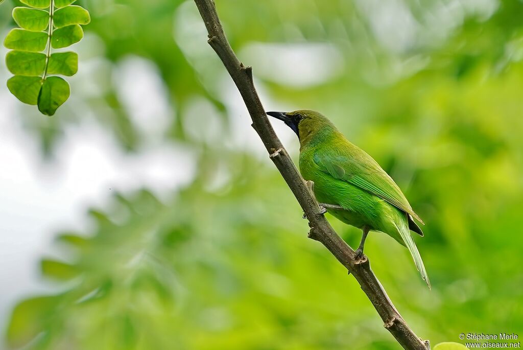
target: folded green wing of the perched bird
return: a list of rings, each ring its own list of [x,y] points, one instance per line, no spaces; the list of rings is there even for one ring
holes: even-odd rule
[[[370,155],[353,144],[347,150],[330,151],[314,154],[314,162],[322,171],[386,200],[424,223],[412,210],[400,187]]]

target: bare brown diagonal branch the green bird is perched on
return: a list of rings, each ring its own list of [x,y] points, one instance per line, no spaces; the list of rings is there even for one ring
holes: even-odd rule
[[[292,190],[292,193],[303,208],[309,220],[311,231],[309,237],[321,242],[353,274],[361,289],[378,311],[386,330],[396,338],[407,350],[430,350],[428,341],[422,341],[409,328],[405,320],[397,312],[378,278],[370,269],[370,263],[364,255],[357,258],[351,247],[342,240],[323,216],[312,190],[306,185],[289,154],[283,148],[269,123],[265,109],[256,93],[253,84],[252,67],[244,66],[234,54],[234,51],[225,37],[220,19],[212,0],[195,0],[200,15],[209,32],[209,44],[222,60],[225,68],[236,84],[238,91],[247,106],[253,121],[253,128],[258,133],[270,159],[274,162],[281,175]]]

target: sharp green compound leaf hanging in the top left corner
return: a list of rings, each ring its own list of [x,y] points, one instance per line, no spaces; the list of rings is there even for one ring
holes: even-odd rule
[[[14,74],[7,87],[23,103],[38,105],[44,115],[52,116],[71,93],[69,84],[54,75],[76,74],[78,55],[51,51],[82,40],[80,25],[90,22],[89,12],[71,5],[75,0],[20,1],[29,7],[13,9],[20,28],[12,29],[4,40],[4,46],[12,50],[6,55],[6,66]]]

